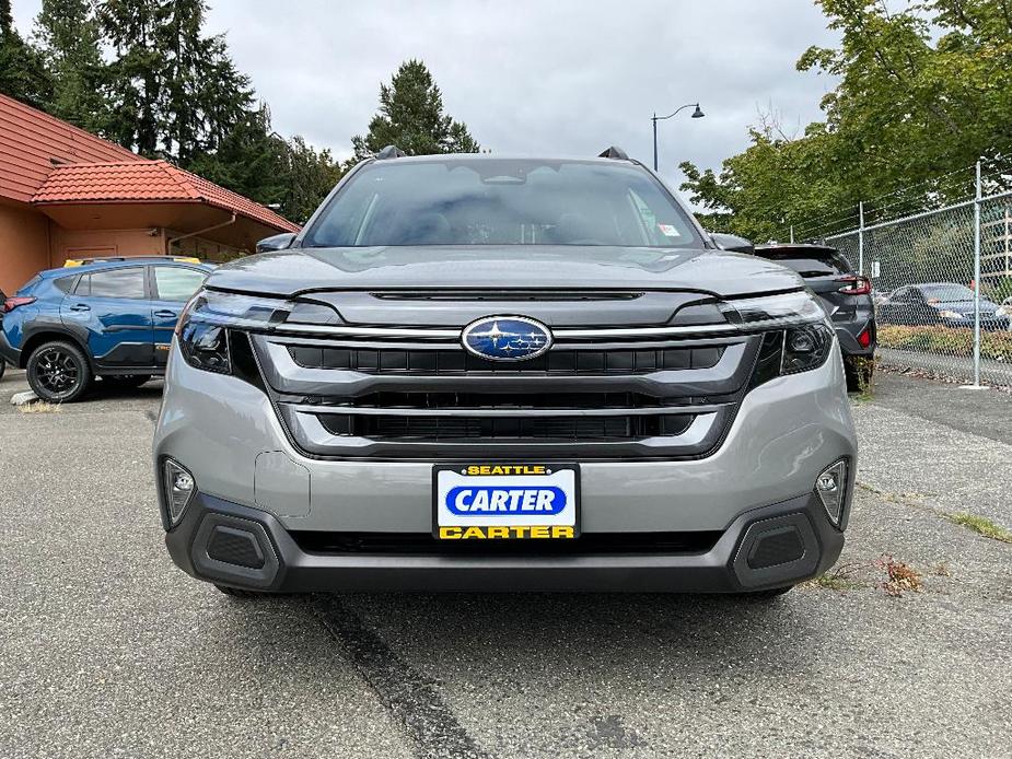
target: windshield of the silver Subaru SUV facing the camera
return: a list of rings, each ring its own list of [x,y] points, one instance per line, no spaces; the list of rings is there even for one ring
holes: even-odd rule
[[[490,157],[368,164],[302,245],[702,247],[688,215],[642,168]]]

